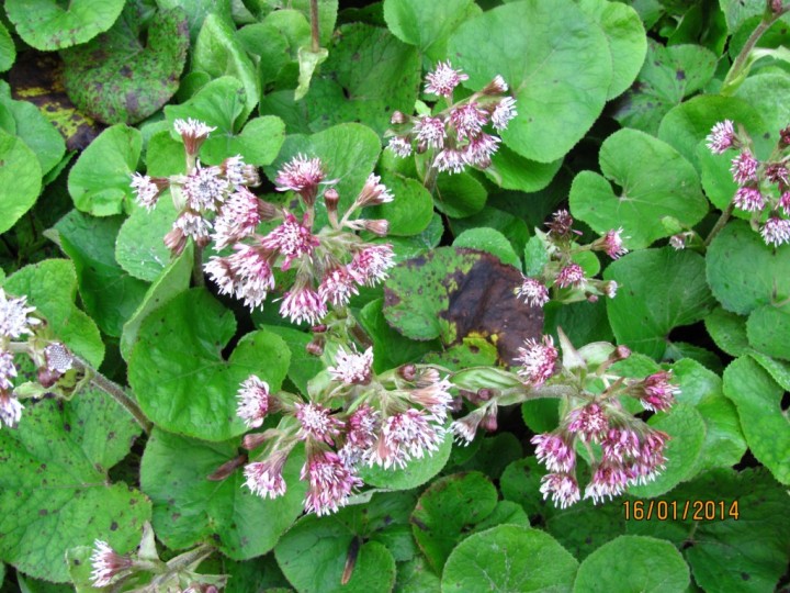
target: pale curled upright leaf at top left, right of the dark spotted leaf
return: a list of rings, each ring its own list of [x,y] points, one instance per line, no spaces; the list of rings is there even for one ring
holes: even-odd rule
[[[198,35],[192,64],[194,70],[207,72],[212,78],[229,76],[241,81],[245,100],[240,120],[247,120],[258,104],[260,82],[252,60],[236,38],[232,22],[216,13],[206,16]]]

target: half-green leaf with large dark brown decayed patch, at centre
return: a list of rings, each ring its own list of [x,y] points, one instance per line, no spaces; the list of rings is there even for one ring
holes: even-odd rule
[[[485,337],[509,365],[526,338],[539,337],[543,311],[516,296],[521,272],[475,249],[440,247],[396,266],[384,291],[384,317],[403,335],[445,345]]]

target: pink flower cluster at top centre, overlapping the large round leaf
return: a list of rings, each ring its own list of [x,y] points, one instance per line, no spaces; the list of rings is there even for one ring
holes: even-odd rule
[[[517,115],[516,100],[505,96],[508,86],[497,76],[482,91],[453,103],[453,90],[463,80],[469,76],[453,69],[449,61],[440,61],[428,72],[426,93],[443,97],[452,104],[439,113],[417,118],[395,112],[392,124],[396,128],[390,149],[399,157],[409,156],[415,148],[418,153],[433,150],[432,166],[450,174],[461,172],[466,166],[489,167],[501,141],[485,127],[506,130]]]

